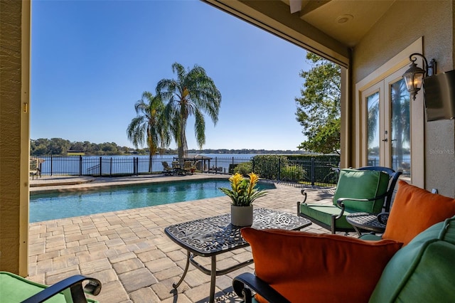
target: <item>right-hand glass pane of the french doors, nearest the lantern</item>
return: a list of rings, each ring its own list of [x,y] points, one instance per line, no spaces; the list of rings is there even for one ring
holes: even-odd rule
[[[400,79],[390,85],[390,94],[392,169],[402,171],[403,176],[410,176],[410,94],[406,90],[405,80]]]

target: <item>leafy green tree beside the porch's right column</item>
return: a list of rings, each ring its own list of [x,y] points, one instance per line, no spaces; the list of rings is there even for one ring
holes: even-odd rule
[[[312,65],[309,71],[301,70],[304,87],[296,97],[296,119],[304,127],[306,141],[299,149],[330,154],[340,149],[341,69],[335,63],[306,53]]]

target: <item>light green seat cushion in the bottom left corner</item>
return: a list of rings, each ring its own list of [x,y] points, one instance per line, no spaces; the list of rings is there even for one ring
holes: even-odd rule
[[[0,303],[18,303],[41,292],[47,286],[24,279],[11,272],[0,272]],[[68,295],[70,295],[68,289]],[[97,302],[87,299],[88,302]],[[55,294],[55,296],[45,301],[46,303],[67,302],[65,294]]]

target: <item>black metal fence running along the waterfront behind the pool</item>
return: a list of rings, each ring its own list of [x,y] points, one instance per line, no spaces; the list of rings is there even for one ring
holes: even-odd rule
[[[39,156],[41,176],[136,176],[161,174],[162,162],[171,166],[175,156]],[[196,172],[212,174],[247,174],[254,171],[264,179],[312,186],[330,186],[338,180],[338,164],[292,159],[287,156],[203,156],[184,161],[195,163]]]

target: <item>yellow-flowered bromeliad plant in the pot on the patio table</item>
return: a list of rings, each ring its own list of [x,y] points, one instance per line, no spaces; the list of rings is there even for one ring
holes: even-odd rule
[[[251,206],[253,201],[266,194],[265,191],[257,188],[259,176],[255,173],[250,173],[248,176],[250,179],[245,179],[241,174],[235,173],[229,178],[231,189],[220,187],[220,191],[230,197],[232,205]]]

